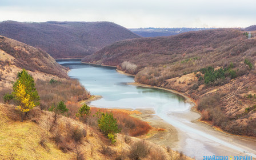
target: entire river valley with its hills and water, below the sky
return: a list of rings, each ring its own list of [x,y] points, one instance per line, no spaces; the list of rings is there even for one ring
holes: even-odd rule
[[[44,30],[38,36],[24,36],[27,31],[35,35],[38,27]],[[79,159],[80,155],[155,159],[160,154],[162,159],[256,157],[254,26],[150,38],[109,22],[8,21],[1,22],[1,28],[5,35],[34,46],[0,36],[1,137],[5,139],[0,141],[0,155],[4,159]],[[20,35],[11,29],[19,29]],[[57,63],[51,55],[69,60]],[[70,58],[83,59],[80,63]],[[11,93],[22,69],[33,76],[41,98],[40,105],[25,114],[25,123],[19,122],[17,101],[3,104],[3,95]],[[57,115],[54,107],[62,101],[67,113]],[[90,115],[78,117],[85,102],[90,104]],[[105,117],[110,112],[120,130],[106,136],[99,115]],[[33,148],[27,147],[26,141],[15,140],[24,134],[36,137],[26,139]],[[76,140],[76,136],[81,138]],[[139,143],[146,155],[136,155],[134,146]],[[154,150],[161,152],[151,149],[154,144]],[[14,153],[10,147],[15,148]],[[39,157],[26,155],[23,149],[33,150]]]

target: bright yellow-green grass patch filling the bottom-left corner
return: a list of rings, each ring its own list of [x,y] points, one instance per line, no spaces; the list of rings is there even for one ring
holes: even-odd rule
[[[24,123],[13,121],[8,116],[12,107],[0,104],[0,159],[71,158],[69,154],[58,150],[56,145],[50,141],[46,142],[47,150],[40,146],[39,141],[42,135],[47,135],[47,131],[31,121]]]

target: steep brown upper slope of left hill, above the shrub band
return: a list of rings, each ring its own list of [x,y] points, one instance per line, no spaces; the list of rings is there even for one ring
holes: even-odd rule
[[[3,54],[9,54],[9,57],[5,61],[0,59],[1,66],[15,65],[21,69],[33,72],[40,71],[42,73],[57,75],[61,78],[67,78],[67,69],[59,65],[53,57],[41,49],[35,49],[34,47],[6,37],[0,39],[0,49],[5,52]]]

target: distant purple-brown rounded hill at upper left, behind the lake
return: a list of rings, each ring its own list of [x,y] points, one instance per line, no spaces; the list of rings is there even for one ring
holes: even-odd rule
[[[54,21],[4,21],[0,35],[45,50],[53,58],[83,58],[115,41],[139,37],[111,22]]]

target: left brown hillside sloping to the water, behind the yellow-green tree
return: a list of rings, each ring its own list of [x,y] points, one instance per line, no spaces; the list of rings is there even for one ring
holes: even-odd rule
[[[41,109],[48,109],[59,101],[77,103],[90,97],[90,93],[77,80],[68,77],[67,69],[45,51],[0,36],[1,102],[3,95],[12,91],[12,82],[16,81],[22,69],[26,69],[36,82]],[[54,79],[53,84],[50,83],[51,79]]]

